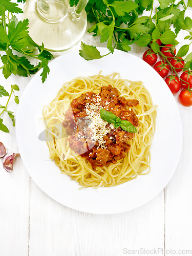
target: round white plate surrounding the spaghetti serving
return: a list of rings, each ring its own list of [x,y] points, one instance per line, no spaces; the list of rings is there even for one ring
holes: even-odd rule
[[[100,48],[101,54],[107,51]],[[20,100],[16,137],[24,165],[34,182],[51,198],[70,208],[93,214],[116,214],[134,209],[153,199],[166,186],[177,167],[182,146],[181,120],[175,99],[163,78],[142,59],[119,50],[98,60],[84,60],[78,51],[62,55],[49,64],[50,74],[41,83],[38,72]],[[122,185],[78,189],[69,176],[61,175],[49,160],[47,143],[38,135],[44,130],[42,107],[56,95],[62,84],[77,76],[103,75],[115,71],[121,78],[142,80],[158,105],[157,127],[151,147],[151,173]]]

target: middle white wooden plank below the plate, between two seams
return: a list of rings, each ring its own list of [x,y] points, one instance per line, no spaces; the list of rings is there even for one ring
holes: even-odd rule
[[[163,204],[162,191],[151,202],[123,214],[86,214],[58,204],[32,181],[30,256],[117,256],[129,250],[164,248]]]

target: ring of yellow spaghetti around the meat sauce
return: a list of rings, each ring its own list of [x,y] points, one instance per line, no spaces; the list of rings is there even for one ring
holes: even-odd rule
[[[139,119],[138,133],[129,141],[131,149],[125,158],[93,170],[88,160],[69,147],[69,137],[62,121],[74,98],[86,92],[99,93],[101,86],[110,84],[125,99],[139,100],[139,105],[132,107]],[[74,78],[63,84],[56,97],[42,110],[50,159],[55,161],[62,174],[69,175],[81,188],[116,186],[133,180],[138,175],[146,175],[151,170],[150,147],[155,132],[156,109],[157,105],[153,105],[151,95],[141,81],[121,79],[117,72],[107,76],[100,72],[95,76]]]

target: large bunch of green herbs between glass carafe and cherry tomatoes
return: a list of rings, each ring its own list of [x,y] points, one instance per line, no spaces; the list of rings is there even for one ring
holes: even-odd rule
[[[71,6],[77,4],[78,0],[70,0]],[[114,49],[128,52],[131,45],[140,47],[150,46],[159,53],[160,47],[157,39],[161,39],[163,45],[178,45],[176,40],[180,30],[185,30],[188,35],[184,39],[192,40],[192,19],[185,17],[185,11],[192,7],[192,0],[187,5],[183,0],[175,4],[175,0],[158,0],[159,6],[155,9],[153,0],[89,0],[86,6],[87,17],[93,26],[88,29],[92,35],[100,36],[100,42],[107,41],[109,53]],[[149,15],[140,16],[143,11],[149,11]],[[174,28],[171,30],[171,26]],[[188,45],[183,45],[177,56],[184,57],[189,51]],[[98,49],[81,42],[79,54],[87,59],[99,59],[101,55]],[[192,53],[185,58],[185,68],[192,70]]]

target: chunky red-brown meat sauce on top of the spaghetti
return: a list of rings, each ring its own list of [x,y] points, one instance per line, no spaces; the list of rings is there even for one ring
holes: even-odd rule
[[[98,103],[99,102],[99,103]],[[103,136],[104,145],[100,146],[98,141],[92,138],[92,131],[89,129],[86,105],[100,105],[106,111],[110,111],[121,120],[130,121],[134,126],[139,125],[139,120],[133,110],[128,108],[139,104],[137,99],[126,100],[119,97],[118,91],[112,86],[103,86],[99,94],[88,92],[73,99],[71,108],[66,111],[65,120],[62,125],[66,128],[69,137],[70,148],[81,157],[90,161],[92,168],[102,167],[110,163],[116,163],[125,157],[125,153],[130,150],[131,145],[127,144],[133,139],[135,133],[129,133],[120,127],[115,129],[111,126],[110,133]],[[109,128],[110,124],[106,124]]]

